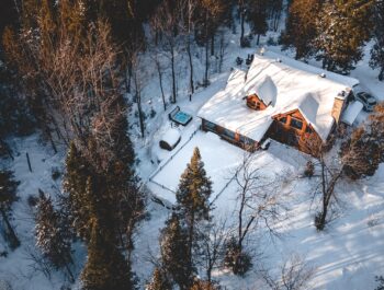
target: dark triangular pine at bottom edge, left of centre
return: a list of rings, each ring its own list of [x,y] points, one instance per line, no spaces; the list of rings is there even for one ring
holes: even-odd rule
[[[120,253],[114,233],[94,217],[88,245],[87,264],[81,272],[83,290],[131,290],[131,269]]]

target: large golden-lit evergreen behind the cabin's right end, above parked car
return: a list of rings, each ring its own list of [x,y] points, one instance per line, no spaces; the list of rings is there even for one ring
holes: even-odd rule
[[[318,18],[317,59],[327,70],[349,73],[371,36],[372,0],[328,1]]]

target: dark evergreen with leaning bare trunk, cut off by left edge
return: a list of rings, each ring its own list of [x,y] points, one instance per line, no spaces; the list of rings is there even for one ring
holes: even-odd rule
[[[0,214],[4,222],[5,240],[12,250],[20,245],[20,241],[9,220],[11,206],[18,200],[16,190],[19,182],[14,181],[13,172],[0,171]]]

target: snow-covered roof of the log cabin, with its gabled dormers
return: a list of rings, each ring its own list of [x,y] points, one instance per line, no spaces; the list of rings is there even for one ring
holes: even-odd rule
[[[323,76],[323,77],[321,77]],[[225,90],[215,94],[199,112],[199,117],[260,141],[272,116],[300,109],[323,140],[334,125],[335,97],[359,81],[324,71],[301,61],[267,51],[255,55],[245,76],[236,71]],[[263,111],[248,108],[244,96],[257,93],[266,104]]]

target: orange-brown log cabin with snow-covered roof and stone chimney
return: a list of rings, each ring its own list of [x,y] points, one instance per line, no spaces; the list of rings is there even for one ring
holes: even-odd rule
[[[202,129],[246,150],[268,138],[316,155],[351,101],[359,81],[285,58],[256,54],[249,70],[233,70],[226,88],[200,109]]]

